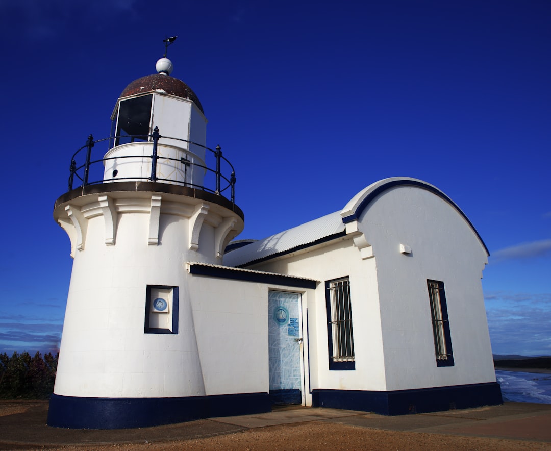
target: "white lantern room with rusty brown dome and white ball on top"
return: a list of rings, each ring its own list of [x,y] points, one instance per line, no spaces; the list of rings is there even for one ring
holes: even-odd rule
[[[168,58],[161,58],[157,74],[138,78],[122,91],[111,115],[104,182],[148,177],[156,145],[157,181],[203,185],[207,119],[191,88],[170,77],[171,67]]]

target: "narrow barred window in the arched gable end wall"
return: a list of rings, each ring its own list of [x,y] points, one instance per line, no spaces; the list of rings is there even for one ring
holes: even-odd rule
[[[447,314],[444,282],[427,280],[430,314],[433,321],[434,350],[436,366],[453,366],[450,322]]]

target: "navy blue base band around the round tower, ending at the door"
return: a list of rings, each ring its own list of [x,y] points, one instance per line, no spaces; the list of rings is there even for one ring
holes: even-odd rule
[[[268,393],[188,398],[77,398],[53,394],[47,425],[72,429],[126,429],[271,410]]]

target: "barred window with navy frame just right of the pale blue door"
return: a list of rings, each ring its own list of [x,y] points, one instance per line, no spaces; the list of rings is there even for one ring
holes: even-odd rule
[[[329,370],[355,370],[348,277],[326,282]]]

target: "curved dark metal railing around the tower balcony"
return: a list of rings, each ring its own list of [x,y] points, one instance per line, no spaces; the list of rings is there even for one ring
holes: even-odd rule
[[[144,138],[147,138],[147,141],[143,141],[143,143],[152,143],[152,154],[149,156],[144,155],[117,155],[107,158],[101,158],[101,159],[92,159],[92,149],[94,146],[98,143],[106,142],[107,146],[109,148],[112,148],[109,145],[109,142],[113,142],[115,139],[115,142],[119,142],[119,140],[123,139],[131,139],[132,142],[134,142],[134,139],[143,140]],[[160,178],[157,176],[157,164],[158,164],[158,143],[160,138],[165,139],[171,139],[176,141],[181,141],[183,143],[187,143],[189,145],[197,146],[201,149],[204,149],[208,152],[205,153],[205,164],[198,164],[197,162],[193,162],[191,160],[182,159],[182,158],[172,158],[168,156],[160,156],[163,160],[171,160],[176,162],[184,162],[186,166],[195,166],[199,169],[202,169],[206,172],[206,181],[207,183],[203,182],[200,186],[198,184],[195,184],[193,182],[184,180],[184,181],[178,181],[168,178]],[[109,149],[107,149],[109,150]],[[85,152],[85,155],[83,155]],[[192,151],[190,150],[190,153]],[[209,156],[210,155],[210,156]],[[149,157],[151,159],[151,174],[148,177],[140,177],[140,176],[130,176],[130,177],[113,177],[113,178],[104,178],[104,171],[103,167],[106,161],[109,160],[121,160],[121,159],[128,159],[128,158],[147,158]],[[84,163],[81,165],[77,164],[77,160],[81,158],[84,160]],[[212,169],[213,165],[209,164],[209,161],[212,161],[214,158],[214,167],[215,169]],[[185,161],[184,161],[185,160]],[[98,165],[98,163],[101,163],[101,165]],[[221,169],[222,166],[224,167],[224,170]],[[101,177],[98,177],[97,180],[90,181],[90,169],[94,169],[96,167],[101,167]],[[105,183],[105,182],[120,182],[123,180],[144,180],[144,181],[150,181],[150,182],[170,182],[170,183],[176,183],[181,184],[182,186],[188,186],[191,188],[198,188],[202,191],[208,191],[217,195],[223,195],[224,192],[230,191],[230,200],[232,203],[235,203],[235,170],[234,167],[231,165],[231,163],[222,155],[222,149],[220,146],[216,146],[216,149],[209,149],[208,147],[194,143],[192,141],[188,141],[186,139],[181,138],[172,138],[172,137],[165,137],[161,136],[159,128],[155,127],[153,129],[153,133],[149,134],[147,136],[144,135],[121,135],[116,137],[109,137],[109,138],[103,138],[94,140],[94,137],[90,135],[86,141],[86,144],[84,144],[80,149],[78,149],[71,158],[71,166],[69,167],[70,175],[69,175],[69,183],[68,183],[68,191],[71,191],[73,189],[73,184],[75,178],[80,180],[82,183],[80,183],[79,186],[87,186],[92,184],[99,184],[99,183]],[[231,171],[229,177],[226,177],[223,175],[223,171],[225,173],[228,173]],[[99,171],[96,171],[99,175]],[[209,177],[209,175],[211,177]],[[212,180],[212,177],[214,177],[214,180]],[[210,183],[212,183],[213,187],[208,186],[208,179],[211,179]],[[227,195],[224,195],[224,197],[227,197]]]

